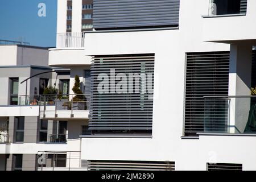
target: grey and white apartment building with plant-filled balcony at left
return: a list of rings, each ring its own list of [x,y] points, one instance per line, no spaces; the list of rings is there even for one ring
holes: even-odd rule
[[[69,102],[75,97],[69,95],[70,70],[49,67],[48,48],[23,45],[0,46],[0,64],[0,171],[65,167],[63,151],[72,150],[69,166],[79,167],[75,151],[80,151],[86,119],[79,121],[77,115],[88,112],[78,101]],[[58,152],[44,161],[41,151]]]

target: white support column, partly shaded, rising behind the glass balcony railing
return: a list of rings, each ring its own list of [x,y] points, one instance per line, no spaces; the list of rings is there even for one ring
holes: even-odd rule
[[[250,96],[252,46],[248,43],[231,44],[229,65],[229,96]],[[230,126],[242,133],[250,110],[250,98],[232,98]],[[230,133],[238,133],[230,128]]]

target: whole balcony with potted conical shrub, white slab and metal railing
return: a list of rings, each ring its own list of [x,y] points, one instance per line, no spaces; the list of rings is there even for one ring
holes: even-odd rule
[[[85,94],[41,96],[40,119],[88,119],[90,96]]]

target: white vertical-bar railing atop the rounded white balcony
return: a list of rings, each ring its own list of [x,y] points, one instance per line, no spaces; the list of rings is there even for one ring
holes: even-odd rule
[[[57,34],[57,48],[83,48],[84,32],[66,32]]]

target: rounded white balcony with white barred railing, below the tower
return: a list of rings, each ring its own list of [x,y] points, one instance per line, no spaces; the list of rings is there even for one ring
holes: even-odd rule
[[[49,49],[49,65],[68,67],[90,65],[90,56],[84,53],[84,32],[57,34],[56,48]]]

